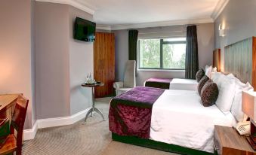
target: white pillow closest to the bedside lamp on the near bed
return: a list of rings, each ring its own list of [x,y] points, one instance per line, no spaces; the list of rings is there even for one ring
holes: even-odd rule
[[[248,82],[246,84],[243,84],[233,74],[228,74],[227,77],[235,80],[235,84],[236,84],[235,96],[234,96],[230,111],[237,121],[242,122],[245,116],[245,114],[242,112],[242,90],[254,91],[254,89],[253,87],[251,87],[251,85]]]

